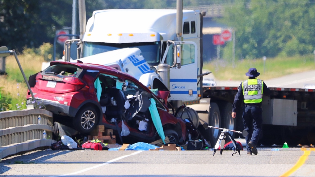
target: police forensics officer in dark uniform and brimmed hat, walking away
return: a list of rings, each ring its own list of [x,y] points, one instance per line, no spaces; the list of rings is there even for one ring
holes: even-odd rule
[[[238,88],[238,93],[235,95],[232,109],[232,117],[236,117],[236,109],[243,107],[243,123],[244,129],[248,132],[246,139],[247,154],[257,155],[256,145],[262,133],[262,95],[269,96],[270,89],[266,84],[256,77],[259,76],[256,68],[249,68],[246,76],[249,78],[241,83]]]

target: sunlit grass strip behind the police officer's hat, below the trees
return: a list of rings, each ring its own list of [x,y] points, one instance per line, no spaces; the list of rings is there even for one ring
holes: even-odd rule
[[[260,72],[259,78],[266,80],[315,70],[314,55],[267,58],[265,67],[262,59],[235,60],[235,67],[231,61],[226,60],[214,60],[203,64],[203,69],[212,71],[217,80],[245,80],[248,78],[245,73],[249,68],[256,68]]]

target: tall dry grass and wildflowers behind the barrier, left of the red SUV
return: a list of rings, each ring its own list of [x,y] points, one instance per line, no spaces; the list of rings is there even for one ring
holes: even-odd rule
[[[52,44],[43,43],[39,48],[24,48],[18,59],[26,78],[41,70],[44,61],[52,60]],[[6,57],[7,75],[0,75],[0,111],[26,109],[27,86],[13,55]]]

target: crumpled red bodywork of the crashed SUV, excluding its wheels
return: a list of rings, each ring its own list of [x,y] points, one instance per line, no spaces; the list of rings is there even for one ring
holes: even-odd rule
[[[63,61],[54,61],[50,63],[50,66],[54,65],[68,65],[68,66],[77,66],[82,68],[83,71],[92,70],[92,71],[100,71],[99,73],[105,73],[107,75],[112,75],[114,77],[118,77],[121,81],[125,81],[128,79],[138,85],[141,86],[141,89],[145,90],[146,92],[150,93],[155,100],[159,100],[156,95],[154,95],[149,88],[144,86],[134,77],[118,71],[114,68],[96,65],[96,64],[88,64],[88,63],[69,63]],[[98,74],[99,74],[98,73]],[[61,83],[57,82],[55,88],[47,87],[49,80],[42,79],[41,73],[38,73],[38,77],[34,87],[32,87],[32,92],[35,94],[35,98],[38,98],[40,104],[45,104],[46,106],[50,106],[49,109],[54,111],[56,114],[66,114],[70,117],[74,117],[77,111],[85,104],[94,104],[99,109],[99,118],[100,124],[105,125],[106,128],[117,129],[114,123],[109,122],[104,114],[101,112],[100,103],[98,102],[94,82],[95,79],[98,77],[98,74],[95,77],[92,77],[88,74],[84,74],[83,76],[80,75],[81,78],[76,79],[76,81],[82,82],[79,85],[73,85],[70,83]],[[50,77],[50,76],[49,76]],[[64,78],[64,77],[63,77]],[[59,79],[58,76],[51,76],[50,79]],[[61,79],[59,79],[61,80]],[[75,90],[75,91],[74,91]],[[31,99],[31,95],[28,91],[27,99]],[[59,99],[59,100],[58,100]],[[158,113],[161,118],[161,123],[164,126],[172,126],[177,127],[177,132],[179,133],[179,137],[183,140],[186,139],[186,125],[181,118],[176,118],[171,115],[168,111],[169,109],[160,102],[160,105],[163,106],[162,108],[158,107]],[[48,110],[49,110],[48,109]],[[118,126],[121,128],[122,121],[118,122]],[[125,123],[128,126],[128,123]],[[141,132],[136,128],[128,126],[130,135],[138,138],[144,139],[145,141],[149,142],[156,139],[158,136],[157,131],[152,123],[152,121],[148,124],[149,132]]]

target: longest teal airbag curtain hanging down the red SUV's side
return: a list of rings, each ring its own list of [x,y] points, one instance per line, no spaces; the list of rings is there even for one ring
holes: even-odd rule
[[[149,106],[149,110],[150,110],[152,122],[155,126],[155,129],[157,129],[158,135],[161,137],[161,139],[163,140],[163,143],[165,144],[165,141],[164,141],[165,135],[164,135],[164,131],[163,131],[161,118],[160,118],[160,115],[158,114],[158,111],[157,111],[156,102],[153,98],[150,98],[150,101],[151,101],[151,104]]]

